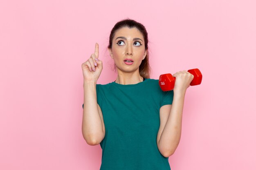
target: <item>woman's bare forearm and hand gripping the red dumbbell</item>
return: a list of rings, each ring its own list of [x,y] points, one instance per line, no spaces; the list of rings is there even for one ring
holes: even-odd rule
[[[187,71],[180,71],[173,75],[176,77],[173,89],[173,103],[158,142],[159,151],[164,157],[173,155],[180,143],[182,129],[182,112],[186,89],[193,80],[193,75]]]

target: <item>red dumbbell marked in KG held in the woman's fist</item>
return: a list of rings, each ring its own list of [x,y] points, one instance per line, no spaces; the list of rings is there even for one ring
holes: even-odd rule
[[[188,70],[189,73],[193,74],[194,78],[190,83],[190,86],[199,85],[202,82],[202,73],[198,68]],[[159,77],[159,86],[162,91],[171,91],[174,88],[176,77],[173,77],[170,73],[162,74]]]

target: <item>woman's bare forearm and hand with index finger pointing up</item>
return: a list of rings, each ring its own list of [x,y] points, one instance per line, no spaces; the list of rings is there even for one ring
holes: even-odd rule
[[[101,108],[97,103],[96,83],[103,69],[99,57],[99,44],[95,44],[95,52],[82,64],[83,70],[83,138],[89,145],[99,144],[105,136],[105,126]]]

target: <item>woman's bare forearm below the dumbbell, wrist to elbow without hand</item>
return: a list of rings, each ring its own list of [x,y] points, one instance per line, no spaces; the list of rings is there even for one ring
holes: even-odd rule
[[[180,143],[185,93],[186,91],[174,92],[170,114],[159,140],[159,145],[168,150],[166,157],[173,155]]]

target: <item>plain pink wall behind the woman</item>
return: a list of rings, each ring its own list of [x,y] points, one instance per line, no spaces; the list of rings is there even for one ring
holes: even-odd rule
[[[256,169],[254,0],[0,2],[0,169],[99,170],[83,139],[81,64],[99,43],[112,82],[108,36],[131,18],[146,26],[151,78],[199,68],[187,89],[172,170]],[[146,156],[146,155],[145,155]]]

